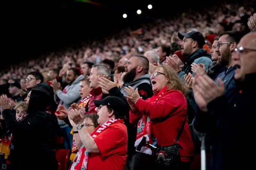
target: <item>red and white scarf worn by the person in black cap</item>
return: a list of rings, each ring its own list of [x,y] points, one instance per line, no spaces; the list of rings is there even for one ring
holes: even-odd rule
[[[124,123],[123,119],[110,119],[106,123],[104,123],[102,126],[98,126],[92,133],[91,136],[95,138],[98,136],[103,130],[105,130],[108,126],[112,125],[115,122],[122,122]],[[79,149],[79,152],[76,154],[76,157],[74,159],[74,169],[82,169],[87,170],[87,163],[90,153],[86,151],[86,148],[84,145],[81,146]]]

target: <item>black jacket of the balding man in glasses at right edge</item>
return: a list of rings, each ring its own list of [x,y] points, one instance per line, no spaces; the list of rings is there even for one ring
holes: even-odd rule
[[[209,170],[251,169],[255,159],[256,73],[235,85],[223,96],[208,103],[208,112],[197,112],[194,129],[209,132]]]

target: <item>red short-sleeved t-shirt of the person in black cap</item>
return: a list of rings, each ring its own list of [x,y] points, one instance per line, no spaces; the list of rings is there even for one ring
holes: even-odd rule
[[[90,153],[87,169],[124,169],[128,142],[126,125],[119,122],[114,123],[96,136],[94,141],[101,153]]]

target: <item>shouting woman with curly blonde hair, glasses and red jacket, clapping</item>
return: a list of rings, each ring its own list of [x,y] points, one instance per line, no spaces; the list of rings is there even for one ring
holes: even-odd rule
[[[125,87],[130,105],[130,122],[138,128],[135,147],[140,142],[139,137],[143,135],[147,136],[146,142],[153,145],[157,143],[164,147],[174,144],[187,114],[188,89],[177,73],[167,65],[155,67],[153,73],[150,79],[154,95],[147,100],[139,96],[138,89]],[[193,161],[194,145],[187,118],[178,143],[183,149],[180,148],[181,163],[176,168],[189,170]],[[143,148],[140,152],[152,154],[149,148]],[[161,167],[157,165],[156,168]]]

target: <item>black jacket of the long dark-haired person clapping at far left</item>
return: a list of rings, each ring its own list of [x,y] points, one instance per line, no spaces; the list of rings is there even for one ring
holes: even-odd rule
[[[6,128],[13,134],[15,148],[12,152],[11,170],[57,170],[53,116],[36,111],[18,122],[10,109],[5,109],[2,114]]]

